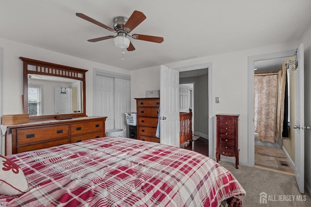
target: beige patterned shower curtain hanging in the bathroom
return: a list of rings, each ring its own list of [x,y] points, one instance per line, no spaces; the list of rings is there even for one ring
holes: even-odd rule
[[[254,123],[258,140],[276,143],[284,119],[286,67],[278,73],[255,74]]]

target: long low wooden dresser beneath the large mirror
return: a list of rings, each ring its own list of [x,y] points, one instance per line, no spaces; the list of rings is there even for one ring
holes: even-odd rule
[[[104,137],[105,120],[91,116],[7,126],[5,155]]]

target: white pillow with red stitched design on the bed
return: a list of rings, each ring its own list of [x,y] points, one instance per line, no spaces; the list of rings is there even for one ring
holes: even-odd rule
[[[11,159],[0,155],[0,194],[18,195],[27,189],[27,180],[20,167]]]

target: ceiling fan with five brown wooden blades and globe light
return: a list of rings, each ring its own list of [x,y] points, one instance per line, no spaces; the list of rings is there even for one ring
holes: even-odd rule
[[[124,16],[117,16],[113,19],[113,27],[108,27],[107,25],[104,25],[103,23],[92,19],[89,16],[86,16],[82,13],[76,13],[76,16],[79,16],[80,18],[85,19],[86,21],[89,21],[93,24],[96,24],[100,27],[103,27],[106,30],[109,30],[111,32],[117,33],[116,35],[109,35],[104,37],[98,37],[94,39],[87,40],[88,42],[98,42],[106,39],[112,39],[114,38],[115,46],[121,49],[127,49],[127,51],[133,51],[135,50],[133,44],[131,41],[127,38],[132,37],[133,39],[137,40],[144,40],[149,42],[155,42],[155,43],[161,43],[163,42],[163,37],[157,37],[157,36],[150,36],[150,35],[144,35],[144,34],[132,34],[129,33],[132,32],[143,20],[146,19],[146,16],[139,11],[134,11],[133,14],[127,18]]]

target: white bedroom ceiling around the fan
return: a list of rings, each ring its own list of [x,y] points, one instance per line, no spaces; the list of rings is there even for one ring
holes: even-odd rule
[[[136,50],[123,61],[113,39],[86,41],[115,33],[75,15],[113,27],[113,17],[134,10],[147,18],[130,34],[164,42],[131,39]],[[310,11],[311,0],[0,0],[0,37],[134,70],[299,40]]]

